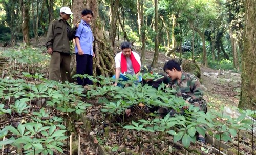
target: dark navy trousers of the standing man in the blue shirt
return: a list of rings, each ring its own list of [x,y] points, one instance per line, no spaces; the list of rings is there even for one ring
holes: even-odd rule
[[[88,74],[93,75],[93,56],[84,54],[79,55],[76,53],[76,74]],[[89,80],[88,78],[81,79],[80,77],[77,77],[77,83],[78,85],[92,85],[93,82]]]

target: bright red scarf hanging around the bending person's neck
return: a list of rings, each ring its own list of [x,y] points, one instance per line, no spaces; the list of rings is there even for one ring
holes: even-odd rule
[[[137,74],[140,71],[140,64],[138,61],[135,59],[133,55],[133,51],[131,52],[130,59],[132,61],[133,69],[135,74]],[[126,57],[121,54],[121,73],[127,72],[127,62],[126,62]]]

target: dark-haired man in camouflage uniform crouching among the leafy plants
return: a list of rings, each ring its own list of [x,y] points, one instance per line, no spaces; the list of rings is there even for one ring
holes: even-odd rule
[[[203,88],[195,75],[182,72],[179,63],[175,60],[166,62],[163,70],[171,79],[169,87],[176,90],[178,97],[182,96],[187,104],[197,106],[200,110],[207,112],[207,105],[203,99]],[[188,106],[184,106],[183,109],[188,109]],[[205,143],[202,135],[199,134],[197,139]]]

